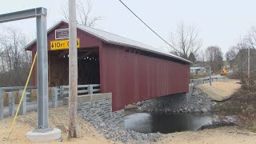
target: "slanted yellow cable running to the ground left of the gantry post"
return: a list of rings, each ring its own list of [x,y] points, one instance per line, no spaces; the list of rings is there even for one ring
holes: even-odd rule
[[[7,140],[9,140],[10,134],[11,134],[11,132],[12,132],[13,129],[14,129],[14,124],[15,124],[15,121],[16,121],[16,118],[17,118],[17,115],[18,115],[18,111],[19,111],[19,108],[21,107],[22,100],[23,100],[23,97],[24,97],[25,92],[26,92],[26,87],[27,87],[27,85],[28,85],[29,82],[30,82],[30,76],[31,76],[31,74],[32,74],[32,70],[33,70],[33,68],[34,68],[34,62],[35,62],[35,60],[37,59],[37,56],[38,56],[38,52],[35,53],[35,55],[34,55],[34,60],[33,60],[32,66],[31,66],[31,68],[30,68],[30,74],[29,74],[28,78],[26,79],[26,85],[25,85],[25,88],[24,88],[24,90],[23,90],[23,92],[22,92],[22,97],[21,97],[21,99],[20,99],[20,101],[19,101],[19,103],[18,103],[18,109],[17,109],[16,114],[15,114],[15,116],[14,116],[13,123],[12,123],[11,126],[10,126],[10,133],[9,133],[9,135],[8,135]]]

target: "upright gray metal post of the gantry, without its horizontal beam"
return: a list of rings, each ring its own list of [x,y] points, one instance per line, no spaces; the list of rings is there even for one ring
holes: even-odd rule
[[[46,9],[42,9],[46,10]],[[38,129],[45,130],[48,126],[48,50],[46,11],[36,17],[37,51],[38,51]]]

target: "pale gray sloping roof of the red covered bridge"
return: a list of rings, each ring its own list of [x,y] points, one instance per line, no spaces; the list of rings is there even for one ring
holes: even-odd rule
[[[54,30],[54,28],[59,26],[60,24],[62,24],[62,22],[68,23],[66,20],[61,20],[61,21],[57,22],[54,26],[50,27],[50,29],[47,30],[47,33],[50,33],[50,31]],[[88,26],[83,26],[80,24],[78,24],[77,27],[78,27],[78,29],[85,31],[86,33],[94,35],[94,37],[100,38],[103,42],[106,42],[106,43],[110,43],[110,44],[114,44],[114,45],[118,45],[118,46],[127,46],[127,47],[135,48],[138,50],[145,50],[145,51],[148,51],[148,52],[151,52],[154,54],[160,54],[163,56],[181,60],[183,62],[192,63],[184,58],[178,57],[177,55],[170,54],[170,52],[168,50],[158,49],[153,46],[146,45],[142,42],[134,41],[130,38],[125,38],[125,37],[119,36],[117,34],[112,34],[112,33],[109,33],[109,32],[103,31],[103,30],[98,30],[98,29],[91,28]],[[25,49],[30,50],[31,46],[35,42],[36,42],[36,39],[34,41],[30,42],[30,44],[28,44],[25,47]]]

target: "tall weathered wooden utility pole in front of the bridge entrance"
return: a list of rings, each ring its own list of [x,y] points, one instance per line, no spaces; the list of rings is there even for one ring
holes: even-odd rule
[[[69,0],[69,138],[77,138],[78,50],[76,0]]]

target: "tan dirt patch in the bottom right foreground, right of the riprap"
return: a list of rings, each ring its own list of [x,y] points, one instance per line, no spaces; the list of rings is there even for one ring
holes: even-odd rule
[[[166,138],[157,143],[175,144],[241,144],[256,143],[256,134],[247,130],[238,130],[236,126],[225,126],[216,129],[202,131],[186,131],[173,134],[166,134]]]

